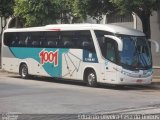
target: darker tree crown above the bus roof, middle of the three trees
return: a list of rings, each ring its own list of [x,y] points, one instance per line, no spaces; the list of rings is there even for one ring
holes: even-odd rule
[[[91,16],[97,23],[103,19],[102,15],[110,14],[115,10],[115,6],[109,0],[74,0],[73,12],[81,19],[85,20]]]

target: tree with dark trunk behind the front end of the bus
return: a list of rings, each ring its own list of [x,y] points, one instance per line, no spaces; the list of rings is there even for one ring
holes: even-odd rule
[[[147,38],[151,37],[150,16],[157,8],[157,0],[111,0],[116,4],[121,14],[136,13],[142,21],[143,32]]]

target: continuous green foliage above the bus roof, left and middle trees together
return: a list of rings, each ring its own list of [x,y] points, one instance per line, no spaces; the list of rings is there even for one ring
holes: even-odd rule
[[[80,23],[87,15],[98,20],[112,11],[109,0],[15,0],[14,13],[25,26],[51,23]]]

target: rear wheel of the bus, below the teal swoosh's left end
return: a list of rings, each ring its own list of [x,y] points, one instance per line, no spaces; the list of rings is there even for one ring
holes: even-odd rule
[[[28,78],[28,76],[29,76],[29,75],[28,75],[28,67],[27,67],[26,64],[22,64],[22,65],[20,66],[19,74],[21,75],[21,77],[22,77],[23,79]]]

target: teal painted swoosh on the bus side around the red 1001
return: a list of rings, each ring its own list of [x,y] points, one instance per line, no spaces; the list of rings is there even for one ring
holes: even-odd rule
[[[41,56],[40,53],[44,51],[45,59],[47,55],[53,57],[54,53],[58,52],[58,65],[52,63],[51,61],[45,61],[43,63],[44,70],[51,76],[51,77],[62,77],[62,54],[67,53],[69,49],[57,49],[57,48],[20,48],[20,47],[10,47],[11,52],[14,54],[16,58],[19,59],[27,59],[32,58],[36,60],[39,64],[41,63]],[[44,56],[43,56],[44,57]],[[53,58],[50,58],[51,60]]]

